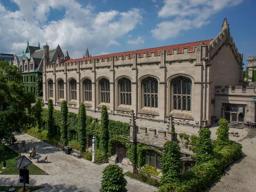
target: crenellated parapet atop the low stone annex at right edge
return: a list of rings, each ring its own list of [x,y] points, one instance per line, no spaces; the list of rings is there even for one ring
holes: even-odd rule
[[[255,86],[215,86],[215,95],[255,96]]]

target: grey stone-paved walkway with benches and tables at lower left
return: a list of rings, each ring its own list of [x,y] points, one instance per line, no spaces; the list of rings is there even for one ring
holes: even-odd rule
[[[101,186],[102,169],[108,164],[96,165],[84,159],[67,155],[58,148],[38,140],[28,134],[15,136],[18,141],[26,140],[26,146],[35,147],[36,153],[43,157],[48,156],[49,163],[36,163],[37,159],[32,160],[34,164],[43,169],[49,175],[30,175],[31,186],[44,185],[43,190],[49,192],[61,191],[81,191],[98,192]],[[29,154],[25,154],[29,156]],[[40,159],[39,159],[40,160]],[[145,185],[136,180],[127,180],[127,189],[132,192],[153,192],[156,188]],[[18,175],[0,175],[0,185],[22,185],[19,183]],[[26,184],[27,185],[27,184]]]

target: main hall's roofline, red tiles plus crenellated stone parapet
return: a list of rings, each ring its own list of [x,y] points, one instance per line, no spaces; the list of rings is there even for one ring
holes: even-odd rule
[[[130,52],[120,52],[107,55],[83,57],[80,59],[63,60],[55,63],[56,71],[62,70],[67,66],[67,70],[72,70],[79,65],[79,70],[96,70],[101,68],[137,68],[142,65],[171,65],[173,63],[196,61],[197,46],[199,44],[207,45],[212,41],[198,41],[186,44],[169,45],[150,49],[135,50]],[[181,54],[182,57],[181,57]]]

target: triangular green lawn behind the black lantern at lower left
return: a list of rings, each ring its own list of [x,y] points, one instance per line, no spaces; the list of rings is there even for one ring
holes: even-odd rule
[[[3,166],[4,161],[4,150],[3,144],[0,144],[0,167]],[[5,162],[6,162],[6,169],[1,169],[2,171],[0,175],[18,175],[19,170],[17,169],[16,159],[20,157],[20,154],[14,152],[9,147],[5,146]],[[47,172],[43,171],[35,164],[28,165],[29,175],[49,175]]]

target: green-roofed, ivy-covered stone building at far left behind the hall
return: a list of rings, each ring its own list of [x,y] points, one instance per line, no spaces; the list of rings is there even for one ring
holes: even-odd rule
[[[47,43],[46,43],[47,44]],[[64,54],[58,45],[48,52],[49,63],[56,61],[57,57],[63,57]],[[43,49],[38,46],[29,46],[21,56],[14,55],[12,65],[16,65],[23,75],[23,83],[26,91],[34,92],[37,97],[43,96],[42,89],[42,71],[43,71]]]

